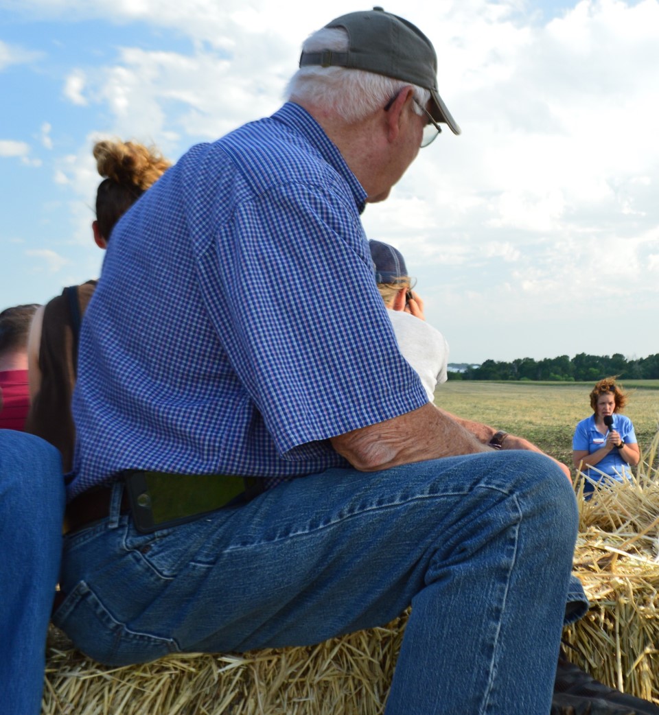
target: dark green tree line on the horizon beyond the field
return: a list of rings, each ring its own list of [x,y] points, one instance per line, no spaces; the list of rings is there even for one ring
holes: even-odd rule
[[[620,352],[614,355],[587,355],[574,358],[518,358],[512,363],[485,360],[469,365],[462,373],[449,370],[449,380],[555,380],[557,382],[597,382],[610,375],[620,380],[659,380],[659,353],[647,358],[628,360]]]

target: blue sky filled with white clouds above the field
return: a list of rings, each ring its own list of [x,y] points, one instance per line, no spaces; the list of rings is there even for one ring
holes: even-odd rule
[[[384,6],[434,41],[463,134],[364,224],[404,253],[451,360],[659,352],[659,0]],[[273,112],[303,38],[353,9],[0,0],[0,307],[99,274],[96,139],[177,159]]]

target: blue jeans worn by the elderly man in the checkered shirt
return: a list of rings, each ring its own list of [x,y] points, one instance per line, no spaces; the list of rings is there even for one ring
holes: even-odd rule
[[[388,715],[549,713],[577,508],[545,456],[328,470],[151,535],[121,489],[64,546],[54,621],[94,659],[315,644],[411,603]]]

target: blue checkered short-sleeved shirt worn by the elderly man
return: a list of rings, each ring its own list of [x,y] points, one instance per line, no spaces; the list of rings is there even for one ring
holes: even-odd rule
[[[125,468],[276,480],[427,401],[376,289],[366,194],[296,104],[192,147],[114,227],[84,317],[69,498]]]

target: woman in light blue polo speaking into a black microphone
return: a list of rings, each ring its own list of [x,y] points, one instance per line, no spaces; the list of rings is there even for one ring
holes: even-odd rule
[[[587,477],[585,494],[607,478],[622,482],[631,477],[631,467],[640,460],[634,425],[620,414],[626,404],[627,395],[615,384],[615,378],[600,380],[590,393],[593,414],[581,420],[572,439],[575,468]]]

